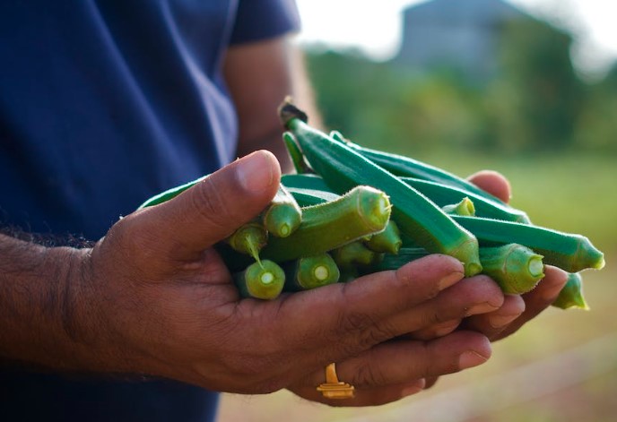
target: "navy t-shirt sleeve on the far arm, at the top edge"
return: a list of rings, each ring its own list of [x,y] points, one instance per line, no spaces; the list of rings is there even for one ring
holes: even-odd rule
[[[231,44],[271,39],[300,30],[295,0],[239,0]]]

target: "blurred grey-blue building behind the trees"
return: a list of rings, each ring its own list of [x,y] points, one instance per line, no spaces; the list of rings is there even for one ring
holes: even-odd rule
[[[454,68],[474,80],[498,71],[500,33],[508,22],[532,19],[501,0],[430,0],[404,11],[396,65],[417,71]]]

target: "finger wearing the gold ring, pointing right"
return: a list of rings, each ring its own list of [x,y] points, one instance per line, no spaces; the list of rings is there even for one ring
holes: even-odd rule
[[[356,357],[336,362],[339,381],[364,390],[452,374],[482,365],[491,357],[491,343],[478,332],[453,332],[430,341],[394,340],[381,343]],[[305,386],[324,383],[324,371],[303,381]]]

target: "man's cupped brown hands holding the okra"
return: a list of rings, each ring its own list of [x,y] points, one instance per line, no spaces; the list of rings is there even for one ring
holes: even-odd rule
[[[377,405],[482,364],[491,340],[540,313],[565,283],[563,271],[547,268],[532,293],[504,297],[488,277],[465,279],[456,259],[433,254],[350,283],[241,300],[212,246],[265,208],[280,176],[274,155],[257,151],[75,253],[73,334],[97,350],[100,370]],[[499,175],[473,181],[509,197]],[[315,390],[331,362],[355,399],[325,400]]]

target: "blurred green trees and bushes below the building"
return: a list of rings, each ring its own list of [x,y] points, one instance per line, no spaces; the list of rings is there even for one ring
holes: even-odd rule
[[[420,71],[357,52],[308,50],[327,127],[388,151],[617,152],[617,67],[603,81],[574,71],[568,33],[533,19],[500,28],[500,71]]]

